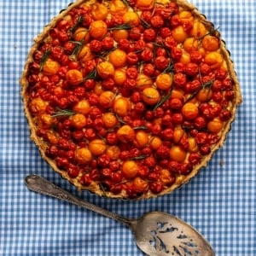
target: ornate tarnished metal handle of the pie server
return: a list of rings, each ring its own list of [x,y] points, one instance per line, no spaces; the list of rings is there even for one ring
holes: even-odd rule
[[[38,193],[44,194],[44,195],[50,195],[57,199],[61,199],[63,201],[73,203],[79,207],[84,207],[90,211],[99,213],[105,217],[113,218],[114,220],[117,220],[117,221],[119,221],[123,224],[126,224],[128,226],[131,226],[131,223],[133,222],[129,218],[124,218],[116,213],[109,212],[101,207],[96,207],[96,205],[93,205],[88,201],[79,199],[75,195],[72,195],[71,193],[67,192],[66,190],[61,189],[60,187],[56,186],[54,183],[50,183],[44,177],[40,177],[36,174],[27,176],[25,178],[25,183],[26,183],[27,188],[34,192],[38,192]]]

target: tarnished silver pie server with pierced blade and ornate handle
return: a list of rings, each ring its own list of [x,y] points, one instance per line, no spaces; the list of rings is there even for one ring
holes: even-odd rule
[[[165,212],[147,212],[141,218],[124,218],[114,212],[108,212],[88,201],[79,199],[64,189],[50,183],[44,177],[29,175],[26,186],[32,191],[50,195],[62,201],[68,201],[79,207],[102,214],[126,224],[134,233],[137,247],[152,256],[212,256],[212,247],[201,234],[185,223]]]

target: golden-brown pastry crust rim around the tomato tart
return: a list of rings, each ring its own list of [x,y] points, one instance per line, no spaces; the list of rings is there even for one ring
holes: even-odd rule
[[[127,192],[125,191],[125,189],[121,189],[119,193],[113,193],[111,191],[108,191],[107,189],[102,189],[101,182],[99,181],[92,181],[90,184],[84,185],[83,183],[80,182],[80,178],[83,175],[83,173],[79,173],[77,177],[70,177],[66,171],[61,170],[57,166],[56,161],[54,159],[50,158],[46,154],[48,143],[46,143],[42,137],[38,136],[38,125],[36,124],[32,111],[29,107],[31,104],[31,95],[29,90],[30,84],[28,81],[28,74],[30,73],[30,65],[34,61],[34,54],[38,50],[40,45],[44,43],[45,40],[47,40],[46,38],[49,37],[49,32],[58,24],[60,20],[63,20],[65,17],[67,17],[67,15],[69,15],[72,9],[79,8],[79,6],[81,6],[81,4],[84,4],[84,3],[89,3],[89,2],[86,2],[83,0],[83,1],[77,1],[76,3],[72,3],[71,5],[69,5],[67,9],[61,11],[60,15],[58,15],[53,20],[51,20],[49,26],[45,26],[44,32],[42,32],[40,35],[38,35],[37,38],[35,38],[35,44],[32,45],[32,49],[30,50],[29,55],[27,57],[26,65],[24,67],[24,72],[20,79],[20,84],[22,86],[21,94],[24,101],[24,110],[26,113],[26,118],[28,120],[28,125],[30,127],[32,141],[36,143],[36,145],[40,150],[40,153],[42,154],[42,157],[44,158],[44,160],[46,160],[49,163],[49,166],[51,166],[55,172],[58,172],[61,175],[61,177],[73,183],[78,189],[81,189],[81,190],[87,189],[87,190],[90,190],[90,192],[96,193],[97,195],[103,195],[110,198],[120,198],[120,199],[127,199],[131,197],[136,197],[138,199],[148,199],[148,198],[171,193],[174,189],[177,189],[178,187],[183,185],[183,183],[188,183],[192,177],[195,177],[195,175],[200,171],[202,167],[207,166],[208,161],[211,160],[212,158],[212,154],[214,154],[214,152],[218,150],[218,148],[224,145],[224,140],[228,132],[230,131],[231,123],[235,119],[236,108],[241,103],[240,86],[236,78],[236,73],[234,71],[234,64],[230,60],[230,53],[225,48],[224,41],[220,40],[218,51],[221,53],[221,55],[224,58],[224,62],[228,70],[229,77],[233,81],[232,90],[235,94],[234,99],[231,102],[229,102],[229,105],[228,105],[228,108],[230,110],[230,118],[227,121],[224,121],[224,126],[220,131],[220,134],[221,134],[220,138],[217,143],[214,143],[211,146],[211,152],[209,154],[203,155],[203,160],[201,160],[198,164],[193,165],[193,170],[191,172],[185,175],[176,173],[175,182],[171,183],[170,185],[164,186],[164,188],[161,189],[159,193],[155,193],[155,192],[153,193],[152,190],[147,189],[143,191],[143,193],[137,193],[137,195],[135,196],[127,195]],[[202,24],[206,26],[208,32],[212,32],[212,30],[214,29],[212,23],[209,22],[204,15],[201,15],[200,12],[195,8],[195,6],[193,6],[192,4],[186,1],[179,1],[179,0],[172,1],[172,3],[177,3],[179,9],[189,11],[194,16],[195,20],[199,20]]]

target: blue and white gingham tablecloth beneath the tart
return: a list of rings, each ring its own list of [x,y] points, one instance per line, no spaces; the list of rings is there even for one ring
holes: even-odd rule
[[[155,210],[183,218],[210,241],[217,255],[256,255],[256,2],[192,1],[219,27],[236,63],[243,103],[224,148],[207,168],[172,195],[148,201],[113,201],[78,192],[51,171],[29,139],[20,74],[32,38],[68,3],[0,3],[0,254],[143,255],[125,226],[26,189],[26,175],[38,173],[129,218]]]

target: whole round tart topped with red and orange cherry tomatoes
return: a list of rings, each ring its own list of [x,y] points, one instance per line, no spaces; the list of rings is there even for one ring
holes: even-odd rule
[[[110,198],[188,183],[241,103],[220,33],[183,0],[70,4],[35,39],[20,84],[44,160]]]

